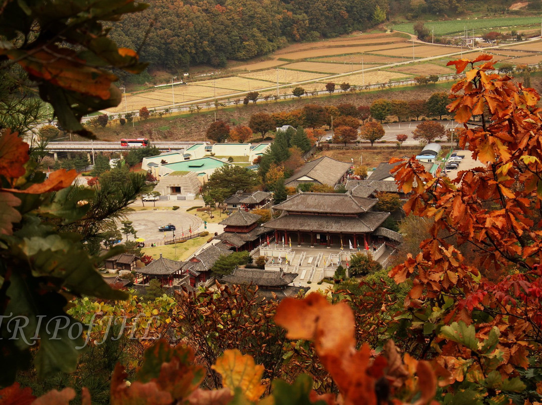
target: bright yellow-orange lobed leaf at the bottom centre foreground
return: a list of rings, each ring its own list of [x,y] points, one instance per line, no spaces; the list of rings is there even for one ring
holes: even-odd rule
[[[255,364],[252,356],[242,355],[237,349],[225,350],[212,366],[222,376],[222,384],[234,392],[239,387],[250,401],[257,401],[266,390],[261,379],[263,365]]]

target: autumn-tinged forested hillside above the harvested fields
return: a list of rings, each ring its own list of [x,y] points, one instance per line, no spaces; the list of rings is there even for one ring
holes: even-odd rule
[[[381,23],[388,0],[147,0],[115,23],[112,37],[163,69],[265,55],[288,41],[313,41]],[[147,38],[145,40],[145,35]]]

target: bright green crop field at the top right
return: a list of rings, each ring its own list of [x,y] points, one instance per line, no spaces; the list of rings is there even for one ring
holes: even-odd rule
[[[469,35],[472,35],[474,29],[475,35],[480,35],[482,31],[499,31],[503,28],[508,30],[518,30],[526,28],[539,28],[540,16],[538,17],[504,17],[504,18],[480,18],[480,19],[460,19],[451,21],[432,21],[425,22],[425,28],[430,32],[435,29],[435,35],[453,35],[462,34],[467,28]],[[414,23],[396,24],[392,27],[397,31],[409,32],[415,34]]]

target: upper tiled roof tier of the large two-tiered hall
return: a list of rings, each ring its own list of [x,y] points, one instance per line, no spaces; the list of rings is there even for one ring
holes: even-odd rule
[[[378,203],[377,199],[356,197],[350,194],[299,193],[274,205],[273,208],[294,212],[359,214],[369,211],[376,203]]]

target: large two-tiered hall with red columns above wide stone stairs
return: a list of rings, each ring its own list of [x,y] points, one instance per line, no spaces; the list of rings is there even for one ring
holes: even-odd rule
[[[286,245],[308,244],[326,247],[369,249],[388,212],[371,211],[374,198],[356,197],[351,193],[299,193],[273,206],[280,217],[263,224],[275,231],[276,241]]]

